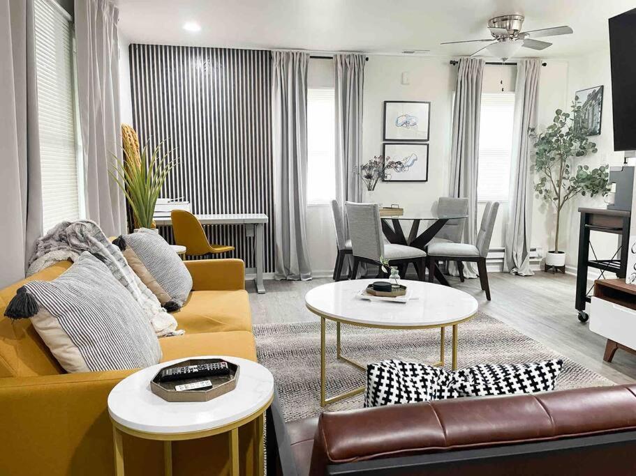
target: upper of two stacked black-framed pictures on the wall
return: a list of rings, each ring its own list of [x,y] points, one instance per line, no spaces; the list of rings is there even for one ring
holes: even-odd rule
[[[430,102],[385,101],[383,140],[428,141],[430,116]]]

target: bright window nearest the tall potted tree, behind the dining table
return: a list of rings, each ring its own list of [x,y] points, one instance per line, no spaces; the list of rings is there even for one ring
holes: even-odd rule
[[[510,190],[515,93],[482,93],[479,134],[479,201],[507,201]]]

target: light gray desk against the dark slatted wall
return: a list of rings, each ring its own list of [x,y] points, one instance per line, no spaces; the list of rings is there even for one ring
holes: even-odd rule
[[[265,249],[265,235],[263,224],[269,222],[265,213],[213,213],[207,215],[195,215],[197,220],[204,225],[243,225],[246,236],[254,237],[256,240],[256,269],[247,268],[246,272],[256,272],[256,291],[259,294],[265,293],[265,285],[262,282],[263,255]],[[172,224],[170,217],[155,217],[154,222],[159,225],[168,226]]]

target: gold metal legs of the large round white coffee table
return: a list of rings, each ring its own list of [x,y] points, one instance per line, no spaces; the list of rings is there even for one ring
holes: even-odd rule
[[[348,399],[350,397],[355,397],[355,395],[361,394],[364,392],[366,387],[358,387],[349,392],[345,392],[343,394],[335,395],[334,397],[327,398],[327,362],[326,362],[326,354],[327,354],[327,319],[330,321],[334,321],[336,323],[336,357],[338,360],[346,362],[357,369],[362,371],[367,371],[367,367],[365,365],[360,364],[360,362],[355,362],[355,360],[351,360],[350,358],[346,358],[342,355],[342,346],[341,346],[341,332],[340,332],[340,321],[336,319],[327,318],[325,316],[320,316],[320,406],[327,406],[336,401],[341,401],[344,399]],[[353,323],[350,323],[355,325]],[[360,325],[361,327],[380,327],[373,325]],[[452,369],[457,370],[457,332],[458,332],[459,323],[452,325]],[[383,329],[397,329],[397,330],[405,330],[404,327],[389,327],[382,326]],[[445,362],[445,326],[444,325],[427,325],[415,329],[431,329],[431,328],[439,328],[440,329],[440,360],[432,364],[434,367],[443,367]]]

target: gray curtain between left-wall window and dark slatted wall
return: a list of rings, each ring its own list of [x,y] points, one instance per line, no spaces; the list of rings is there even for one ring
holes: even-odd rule
[[[86,213],[106,236],[126,229],[124,194],[109,174],[112,154],[121,159],[118,20],[110,0],[75,1]]]

